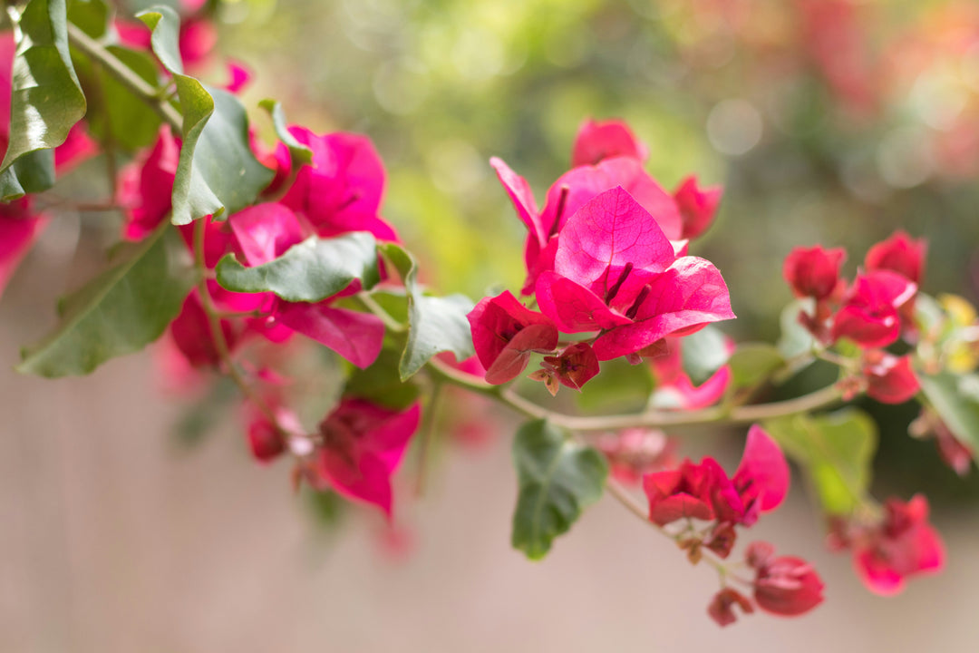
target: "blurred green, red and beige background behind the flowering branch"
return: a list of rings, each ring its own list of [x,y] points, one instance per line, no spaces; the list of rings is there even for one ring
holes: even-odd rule
[[[140,3],[119,3],[130,9]],[[149,3],[146,3],[149,4]],[[667,189],[723,183],[694,254],[732,289],[735,337],[777,337],[792,247],[929,240],[926,292],[977,300],[979,5],[905,0],[222,0],[218,49],[255,73],[246,104],[374,139],[385,215],[443,292],[522,280],[523,226],[489,168],[538,199],[584,117],[624,117]],[[215,56],[215,79],[223,78]],[[256,121],[262,124],[256,111]],[[267,125],[263,128],[267,128]],[[94,183],[83,168],[69,183]],[[542,563],[509,548],[512,423],[445,434],[422,500],[390,532],[374,515],[296,497],[259,468],[235,411],[167,394],[151,353],[84,380],[10,371],[117,234],[102,216],[45,234],[0,303],[0,650],[972,651],[979,586],[973,478],[880,424],[876,491],[929,493],[949,570],[893,599],[825,551],[805,491],[752,535],[813,560],[824,605],[720,630],[713,573],[611,501]],[[798,391],[794,388],[793,391]],[[228,403],[218,388],[213,404]],[[210,399],[209,399],[210,400]],[[736,460],[740,434],[684,453]],[[410,455],[410,452],[409,452]],[[798,486],[798,484],[797,484]]]

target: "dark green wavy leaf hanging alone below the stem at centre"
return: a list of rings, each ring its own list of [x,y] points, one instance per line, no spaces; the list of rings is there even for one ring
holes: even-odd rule
[[[513,513],[514,548],[539,560],[567,533],[605,487],[608,464],[591,447],[573,443],[545,420],[520,427],[513,441],[520,493]]]

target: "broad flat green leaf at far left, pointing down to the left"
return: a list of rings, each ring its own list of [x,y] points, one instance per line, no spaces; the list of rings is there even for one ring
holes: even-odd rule
[[[107,270],[58,304],[58,326],[21,351],[17,370],[88,374],[110,358],[142,350],[176,317],[192,284],[185,248],[164,222],[145,240],[118,247]]]

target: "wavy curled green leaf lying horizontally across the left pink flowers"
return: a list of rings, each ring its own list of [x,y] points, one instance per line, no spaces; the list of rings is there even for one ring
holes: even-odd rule
[[[366,231],[337,238],[310,236],[264,265],[246,267],[228,254],[217,261],[217,283],[236,293],[275,293],[287,302],[321,302],[359,279],[380,281],[377,241]]]

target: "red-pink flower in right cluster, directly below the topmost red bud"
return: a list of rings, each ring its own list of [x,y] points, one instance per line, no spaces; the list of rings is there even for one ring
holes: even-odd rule
[[[861,347],[887,347],[901,336],[899,309],[917,286],[890,270],[858,274],[833,320],[832,338],[849,338]]]

